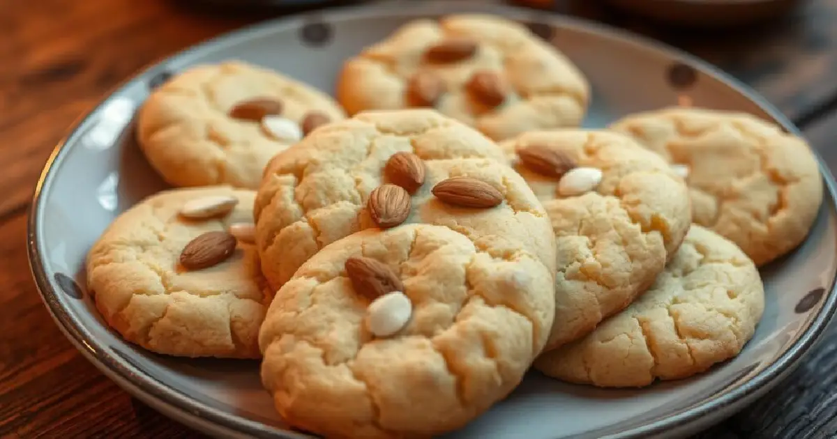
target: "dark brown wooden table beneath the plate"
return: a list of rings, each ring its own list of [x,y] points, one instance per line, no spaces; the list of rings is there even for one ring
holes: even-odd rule
[[[837,0],[757,28],[690,33],[567,4],[686,48],[752,84],[837,170]],[[578,3],[576,3],[578,4]],[[74,350],[29,275],[26,214],[56,141],[108,90],[193,43],[276,15],[172,0],[0,3],[0,437],[195,437],[121,391]],[[837,431],[837,327],[775,391],[699,435],[813,438]]]

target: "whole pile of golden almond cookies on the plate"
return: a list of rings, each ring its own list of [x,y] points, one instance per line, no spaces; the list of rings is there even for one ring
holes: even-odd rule
[[[87,266],[125,339],[260,358],[280,415],[322,436],[452,431],[531,367],[601,387],[704,372],[751,339],[757,267],[822,201],[809,146],[752,115],[578,128],[583,74],[502,18],[408,23],[336,84],[230,61],[162,85],[138,140],[178,188]]]

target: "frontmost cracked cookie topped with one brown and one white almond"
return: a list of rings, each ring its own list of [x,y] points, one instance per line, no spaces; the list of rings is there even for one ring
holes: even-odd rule
[[[552,323],[552,279],[494,244],[411,224],[314,255],[259,333],[280,415],[325,437],[432,437],[508,395]]]

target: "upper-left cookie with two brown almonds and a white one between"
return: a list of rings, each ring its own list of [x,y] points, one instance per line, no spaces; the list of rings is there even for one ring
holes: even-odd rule
[[[257,99],[267,100],[261,113],[278,113],[271,122],[261,123],[252,105],[242,110]],[[310,115],[345,117],[331,97],[307,84],[229,61],[194,66],[155,89],[139,110],[136,135],[151,166],[172,186],[255,189],[270,157],[304,134],[298,125],[306,118],[317,117]]]

